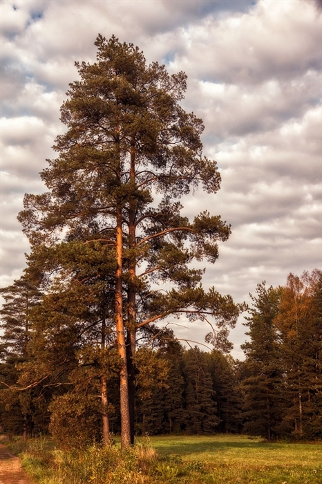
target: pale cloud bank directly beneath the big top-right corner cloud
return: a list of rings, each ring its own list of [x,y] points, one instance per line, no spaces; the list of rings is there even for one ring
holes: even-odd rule
[[[256,86],[200,82],[191,86],[187,106],[205,120],[207,136],[227,139],[280,128],[319,104],[320,76],[304,73],[292,82],[269,80]],[[198,106],[199,103],[199,106]]]

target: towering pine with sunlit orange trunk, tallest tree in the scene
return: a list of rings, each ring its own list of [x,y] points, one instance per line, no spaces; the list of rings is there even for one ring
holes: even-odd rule
[[[201,270],[189,263],[218,257],[217,241],[230,227],[207,212],[193,223],[179,200],[201,184],[220,187],[216,162],[202,157],[202,121],[186,113],[186,75],[146,65],[133,44],[99,35],[97,62],[77,63],[61,106],[67,131],[57,137],[58,158],[41,174],[49,192],[26,195],[19,215],[32,248],[61,241],[100,242],[114,257],[114,323],[120,367],[122,446],[133,441],[135,335],[171,314],[207,313],[234,325],[231,297],[200,287]],[[153,204],[155,193],[159,205]],[[149,283],[171,281],[160,294]]]

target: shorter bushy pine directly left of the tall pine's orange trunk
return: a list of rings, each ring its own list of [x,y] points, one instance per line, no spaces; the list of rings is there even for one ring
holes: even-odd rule
[[[63,420],[57,415],[70,404],[73,411],[66,409],[66,415],[69,414],[73,425],[73,414],[79,418],[77,405],[85,411],[84,404],[88,401],[88,409],[98,408],[102,416],[100,438],[110,443],[108,379],[117,368],[113,297],[108,292],[110,269],[111,263],[100,243],[61,243],[34,251],[29,257],[28,270],[43,281],[46,295],[33,315],[32,361],[21,370],[25,378],[35,378],[35,369],[42,369],[50,379],[48,385],[65,385],[70,389],[68,395],[65,392],[55,395],[55,404],[50,405],[55,420],[50,428],[61,442],[70,429],[66,421],[59,424],[64,422],[64,415]],[[81,394],[84,402],[79,398]],[[91,402],[97,402],[97,394],[101,400],[98,407]],[[71,434],[75,437],[75,431]]]

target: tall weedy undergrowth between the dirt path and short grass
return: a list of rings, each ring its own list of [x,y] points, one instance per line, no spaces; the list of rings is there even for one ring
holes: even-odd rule
[[[191,476],[205,472],[202,463],[158,456],[149,438],[124,450],[93,444],[68,452],[50,450],[45,438],[37,438],[28,443],[21,460],[37,484],[174,484],[178,479],[197,483]]]

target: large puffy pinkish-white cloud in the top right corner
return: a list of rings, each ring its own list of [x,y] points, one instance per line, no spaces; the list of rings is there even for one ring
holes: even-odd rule
[[[247,85],[321,68],[321,23],[314,9],[306,2],[292,8],[283,3],[285,9],[278,1],[259,1],[252,15],[203,20],[188,28],[182,35],[189,46],[173,64],[192,76],[197,68],[204,80]]]

